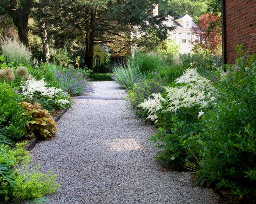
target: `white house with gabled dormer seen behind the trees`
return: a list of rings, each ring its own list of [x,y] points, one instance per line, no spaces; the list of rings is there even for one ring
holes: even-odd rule
[[[168,16],[168,20],[164,22],[166,26],[175,26],[175,30],[169,32],[169,39],[175,44],[180,45],[180,53],[189,53],[193,48],[193,42],[199,41],[199,36],[191,31],[192,26],[196,26],[189,14],[182,15],[174,20]]]

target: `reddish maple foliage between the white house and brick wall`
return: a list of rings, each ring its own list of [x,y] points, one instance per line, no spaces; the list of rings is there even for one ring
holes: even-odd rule
[[[204,13],[199,17],[198,26],[193,26],[191,30],[200,37],[195,49],[199,47],[209,55],[221,54],[221,17],[213,13]]]

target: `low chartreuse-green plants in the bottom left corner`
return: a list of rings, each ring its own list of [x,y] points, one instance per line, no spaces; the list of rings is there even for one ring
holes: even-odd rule
[[[24,143],[15,148],[0,146],[0,200],[15,203],[22,200],[40,198],[54,193],[58,188],[57,176],[51,171],[47,174],[39,172],[40,166],[34,166],[31,172],[28,165],[31,157],[23,148]],[[20,163],[22,161],[22,163]]]

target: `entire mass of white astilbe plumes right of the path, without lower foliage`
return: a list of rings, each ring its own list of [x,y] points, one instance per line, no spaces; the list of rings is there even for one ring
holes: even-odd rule
[[[208,106],[210,102],[215,100],[215,97],[212,96],[215,89],[211,82],[200,76],[195,69],[186,70],[181,77],[175,80],[175,83],[175,87],[165,87],[167,93],[166,100],[155,99],[155,97],[154,99],[150,99],[149,97],[148,101],[145,100],[145,102],[139,105],[139,107],[148,110],[148,119],[157,121],[156,113],[163,107],[161,101],[165,102],[164,107],[166,107],[162,112],[168,111],[176,113],[180,108],[196,106],[197,108],[203,109]],[[161,94],[159,93],[157,96],[161,96]],[[161,106],[158,105],[156,110],[155,106],[159,103]],[[201,110],[198,116],[201,117],[202,113]]]

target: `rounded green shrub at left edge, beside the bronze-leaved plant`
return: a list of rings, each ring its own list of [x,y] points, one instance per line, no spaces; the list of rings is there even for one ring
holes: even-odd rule
[[[17,90],[7,83],[0,83],[0,134],[12,140],[20,140],[22,128],[28,121],[21,100]]]

